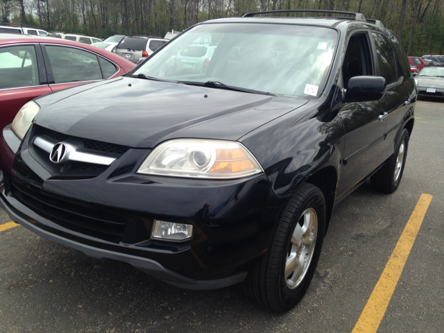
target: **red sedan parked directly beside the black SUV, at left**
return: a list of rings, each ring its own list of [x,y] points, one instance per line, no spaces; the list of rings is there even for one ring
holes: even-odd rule
[[[0,34],[0,132],[37,96],[135,67],[117,54],[70,40]]]

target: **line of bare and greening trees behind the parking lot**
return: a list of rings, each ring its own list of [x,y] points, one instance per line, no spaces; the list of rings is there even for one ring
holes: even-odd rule
[[[0,0],[1,22],[102,38],[163,36],[207,19],[259,10],[361,12],[397,34],[411,56],[443,54],[443,7],[444,0]]]

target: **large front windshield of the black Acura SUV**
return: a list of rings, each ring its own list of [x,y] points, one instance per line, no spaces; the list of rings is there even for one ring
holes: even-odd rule
[[[135,75],[187,84],[315,98],[327,79],[337,33],[286,24],[202,24],[171,40]]]

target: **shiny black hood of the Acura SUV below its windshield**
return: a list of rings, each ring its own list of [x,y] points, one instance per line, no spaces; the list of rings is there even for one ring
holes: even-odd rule
[[[37,125],[139,148],[178,137],[237,140],[307,103],[130,77],[65,89],[35,101],[41,108]]]

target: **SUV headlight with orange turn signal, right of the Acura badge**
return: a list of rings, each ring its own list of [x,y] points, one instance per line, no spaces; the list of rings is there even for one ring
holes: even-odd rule
[[[263,172],[259,162],[239,142],[175,139],[160,144],[137,173],[175,177],[228,179]]]

